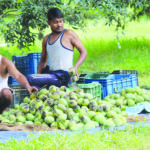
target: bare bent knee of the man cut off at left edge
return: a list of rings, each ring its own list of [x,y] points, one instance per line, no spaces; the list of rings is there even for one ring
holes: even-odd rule
[[[12,102],[12,92],[10,89],[5,88],[1,91],[1,98],[7,101],[8,104],[11,104]]]

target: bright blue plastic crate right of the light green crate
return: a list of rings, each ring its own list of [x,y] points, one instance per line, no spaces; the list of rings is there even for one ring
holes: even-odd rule
[[[113,93],[120,94],[121,89],[138,86],[137,76],[135,74],[116,74],[108,75],[101,79],[85,79],[85,83],[98,82],[102,85],[102,99]]]

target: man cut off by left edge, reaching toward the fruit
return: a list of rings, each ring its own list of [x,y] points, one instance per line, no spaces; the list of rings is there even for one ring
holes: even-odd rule
[[[36,87],[29,85],[26,78],[16,69],[10,60],[0,55],[0,114],[12,102],[12,91],[8,87],[9,75],[13,76],[29,93],[38,91]]]

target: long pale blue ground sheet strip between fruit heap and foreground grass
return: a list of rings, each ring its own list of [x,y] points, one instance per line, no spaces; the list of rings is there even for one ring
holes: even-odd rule
[[[129,122],[127,123],[126,125],[123,125],[123,126],[119,126],[119,127],[110,127],[108,130],[113,132],[115,130],[125,130],[127,129],[128,127],[139,127],[139,126],[150,126],[150,121],[142,121],[142,122]],[[98,131],[102,132],[102,128],[101,127],[98,127],[98,128],[94,128],[94,129],[89,129],[89,130],[86,130],[86,131],[82,131],[82,130],[79,130],[79,131],[67,131],[67,130],[57,130],[57,131],[0,131],[0,143],[3,143],[5,144],[7,141],[10,141],[12,139],[15,139],[17,141],[19,140],[32,140],[35,136],[39,136],[41,133],[44,133],[44,132],[47,132],[49,133],[50,135],[55,135],[56,133],[59,133],[59,134],[75,134],[75,133],[83,133],[83,132],[86,132],[86,133],[91,133],[91,134],[95,134],[97,133]],[[31,136],[32,135],[35,135],[35,136]]]

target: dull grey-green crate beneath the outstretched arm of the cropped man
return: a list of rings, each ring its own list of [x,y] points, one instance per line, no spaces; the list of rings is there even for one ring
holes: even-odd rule
[[[20,85],[10,85],[10,88],[13,90],[13,101],[10,108],[14,108],[15,104],[22,103],[23,99],[30,95],[29,92]]]

